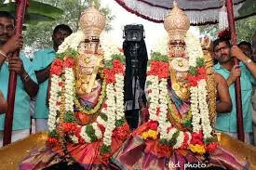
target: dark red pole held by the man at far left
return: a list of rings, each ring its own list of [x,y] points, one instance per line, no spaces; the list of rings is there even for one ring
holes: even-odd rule
[[[19,0],[19,1],[17,0],[15,34],[22,33],[26,1],[27,0]],[[14,55],[19,57],[20,50],[16,51]],[[17,84],[17,74],[15,72],[10,72],[9,83],[8,83],[8,93],[7,93],[8,108],[7,108],[7,114],[6,114],[6,120],[5,120],[5,131],[4,131],[4,141],[3,141],[4,146],[11,143],[16,84]]]

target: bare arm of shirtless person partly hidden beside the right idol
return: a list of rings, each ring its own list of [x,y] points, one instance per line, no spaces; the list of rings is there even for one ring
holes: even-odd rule
[[[232,101],[228,91],[228,85],[221,74],[215,74],[217,83],[218,103],[216,106],[217,112],[230,112],[232,111]]]

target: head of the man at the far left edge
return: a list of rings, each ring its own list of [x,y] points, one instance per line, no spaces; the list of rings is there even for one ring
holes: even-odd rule
[[[0,46],[14,34],[14,17],[6,12],[0,11]]]

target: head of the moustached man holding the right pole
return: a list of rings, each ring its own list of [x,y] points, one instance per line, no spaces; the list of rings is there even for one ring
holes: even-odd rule
[[[213,42],[214,59],[220,63],[231,60],[230,42],[227,39],[218,38]]]

